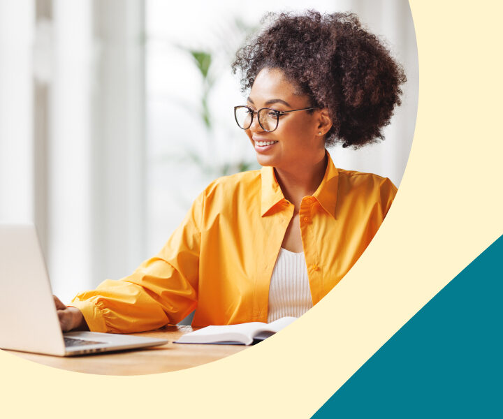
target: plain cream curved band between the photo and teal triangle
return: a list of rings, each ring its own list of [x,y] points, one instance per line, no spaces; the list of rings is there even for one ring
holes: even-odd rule
[[[153,376],[78,374],[0,351],[0,415],[312,416],[503,233],[503,6],[471,4],[411,1],[420,91],[409,164],[370,247],[307,315],[230,358]]]

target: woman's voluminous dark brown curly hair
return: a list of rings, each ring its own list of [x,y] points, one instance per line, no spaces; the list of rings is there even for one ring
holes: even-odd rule
[[[354,148],[384,139],[400,85],[405,77],[379,39],[362,28],[353,13],[302,15],[269,13],[271,20],[232,64],[241,71],[242,91],[254,84],[263,68],[278,68],[306,94],[315,108],[327,108],[333,126],[326,145],[342,142]]]

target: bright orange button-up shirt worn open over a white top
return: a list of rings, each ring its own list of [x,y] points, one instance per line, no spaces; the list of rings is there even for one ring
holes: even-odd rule
[[[328,154],[328,152],[327,152]],[[316,304],[374,237],[395,197],[390,179],[335,168],[300,205],[309,287]],[[293,204],[272,167],[214,180],[163,249],[129,277],[79,293],[96,332],[138,332],[181,321],[193,326],[267,322],[269,283]]]

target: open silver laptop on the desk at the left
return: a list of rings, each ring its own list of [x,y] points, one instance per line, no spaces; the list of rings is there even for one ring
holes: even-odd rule
[[[166,343],[112,333],[62,333],[35,226],[0,223],[0,348],[71,356]]]

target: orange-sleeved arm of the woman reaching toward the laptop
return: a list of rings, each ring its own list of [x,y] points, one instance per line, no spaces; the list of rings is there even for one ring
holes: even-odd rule
[[[196,308],[204,204],[203,192],[163,249],[129,277],[107,279],[73,298],[70,306],[80,310],[90,330],[153,330],[178,323]]]

